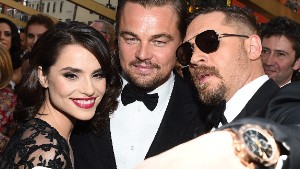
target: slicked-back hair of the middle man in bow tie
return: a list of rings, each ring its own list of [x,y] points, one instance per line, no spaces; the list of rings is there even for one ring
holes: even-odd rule
[[[174,11],[177,14],[178,23],[177,27],[180,32],[181,39],[184,38],[186,32],[186,17],[187,17],[187,3],[183,0],[123,0],[117,9],[116,14],[116,32],[119,33],[119,24],[121,19],[121,13],[124,9],[124,6],[127,2],[140,4],[143,7],[162,7],[170,5],[173,7]]]

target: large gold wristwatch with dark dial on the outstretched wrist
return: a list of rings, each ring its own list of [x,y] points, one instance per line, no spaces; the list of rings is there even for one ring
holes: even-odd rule
[[[258,125],[245,124],[226,129],[232,133],[233,146],[241,162],[254,169],[256,166],[274,166],[280,156],[272,134]]]

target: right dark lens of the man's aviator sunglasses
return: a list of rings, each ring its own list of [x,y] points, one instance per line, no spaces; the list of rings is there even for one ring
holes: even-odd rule
[[[212,53],[218,50],[219,36],[213,30],[207,30],[196,36],[195,43],[204,53]]]

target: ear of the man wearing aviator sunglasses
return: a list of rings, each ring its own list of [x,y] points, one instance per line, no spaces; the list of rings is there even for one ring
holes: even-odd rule
[[[260,58],[262,45],[259,36],[251,35],[246,40],[246,49],[248,49],[248,55],[250,60],[257,60]]]

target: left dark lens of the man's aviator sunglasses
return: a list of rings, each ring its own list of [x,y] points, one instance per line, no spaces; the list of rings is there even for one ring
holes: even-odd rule
[[[182,66],[187,66],[190,64],[193,55],[193,46],[189,42],[181,44],[176,50],[177,61]]]

